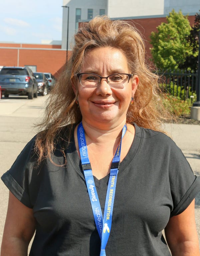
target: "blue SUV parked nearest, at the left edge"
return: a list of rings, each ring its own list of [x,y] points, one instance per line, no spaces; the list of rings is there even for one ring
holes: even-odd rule
[[[28,95],[37,98],[37,81],[28,67],[3,67],[0,71],[0,85],[4,97],[9,94]]]

